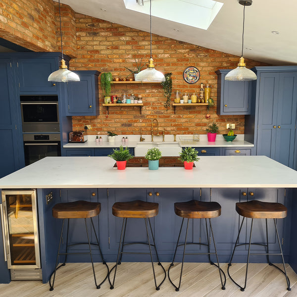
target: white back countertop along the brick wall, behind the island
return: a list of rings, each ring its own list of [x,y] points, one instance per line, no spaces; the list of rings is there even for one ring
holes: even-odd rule
[[[107,142],[107,136],[101,135],[102,142],[96,142],[96,135],[88,135],[88,141],[85,143],[68,143],[63,146],[63,148],[119,148],[121,145],[123,147],[135,148],[140,142],[140,135],[128,135],[128,142],[122,142],[122,137],[126,135],[116,136],[115,142]],[[200,140],[196,144],[185,145],[179,141],[179,136],[177,135],[176,140],[180,147],[192,147],[192,148],[242,148],[242,147],[253,147],[254,145],[244,140],[244,134],[239,134],[233,142],[227,142],[223,138],[223,135],[218,134],[215,142],[208,142],[206,135],[199,135]],[[145,142],[151,141],[150,135],[143,135]],[[191,137],[191,135],[189,135]],[[154,136],[154,141],[162,142],[162,136]],[[165,142],[173,142],[173,135],[165,135]]]

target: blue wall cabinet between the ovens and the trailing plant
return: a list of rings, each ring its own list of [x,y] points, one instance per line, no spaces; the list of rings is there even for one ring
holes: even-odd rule
[[[74,71],[79,82],[67,85],[66,115],[99,115],[99,71]]]

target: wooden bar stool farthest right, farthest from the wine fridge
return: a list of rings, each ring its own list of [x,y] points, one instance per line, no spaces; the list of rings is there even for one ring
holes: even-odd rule
[[[251,200],[251,201],[247,201],[247,202],[238,202],[238,203],[236,203],[236,211],[239,213],[239,215],[243,216],[243,220],[242,220],[242,223],[241,223],[241,226],[240,226],[240,229],[239,229],[238,237],[236,239],[236,243],[235,243],[235,247],[233,249],[233,253],[232,253],[232,256],[231,256],[231,259],[230,259],[230,263],[228,264],[228,275],[229,275],[230,279],[238,287],[240,287],[240,290],[242,292],[244,292],[246,287],[247,287],[247,270],[248,270],[249,256],[250,255],[267,255],[268,264],[276,267],[277,269],[279,269],[281,272],[283,272],[285,274],[286,281],[287,281],[287,286],[288,286],[287,290],[291,291],[290,280],[289,280],[289,278],[287,276],[283,251],[282,251],[279,234],[278,234],[277,227],[276,227],[276,219],[282,219],[282,218],[285,218],[287,216],[287,207],[285,205],[281,204],[281,203],[276,203],[276,202],[262,202],[262,201],[258,201],[258,200]],[[245,218],[251,218],[249,242],[244,243],[244,244],[238,244],[240,232],[242,230]],[[253,220],[254,219],[265,219],[265,222],[266,222],[266,244],[251,243],[251,233],[252,233],[252,226],[253,226]],[[277,235],[278,244],[279,244],[279,247],[280,247],[280,253],[270,253],[269,252],[267,219],[273,219],[274,220],[274,226],[275,226],[275,231],[276,231],[276,235]],[[241,287],[231,277],[231,275],[229,273],[229,268],[230,268],[230,266],[232,266],[231,263],[232,263],[232,259],[233,259],[236,247],[245,246],[245,245],[248,245],[247,270],[246,270],[245,286]],[[266,247],[267,252],[266,253],[250,253],[250,246],[251,245],[264,246],[264,247]],[[282,269],[280,269],[279,267],[277,267],[276,265],[272,264],[269,261],[269,255],[281,255],[282,256],[284,271]]]

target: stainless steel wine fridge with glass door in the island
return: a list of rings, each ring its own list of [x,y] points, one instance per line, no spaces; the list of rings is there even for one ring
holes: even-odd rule
[[[0,205],[11,279],[41,279],[36,190],[3,190]]]

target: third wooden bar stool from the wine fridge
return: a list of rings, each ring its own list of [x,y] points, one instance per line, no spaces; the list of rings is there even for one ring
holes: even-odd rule
[[[198,201],[198,200],[190,200],[187,202],[176,202],[174,203],[174,212],[178,216],[182,217],[182,224],[181,224],[181,229],[178,235],[176,247],[175,247],[175,252],[174,256],[172,259],[172,262],[168,268],[168,278],[170,283],[175,287],[175,291],[179,291],[181,287],[181,282],[182,282],[182,274],[183,274],[183,267],[184,267],[184,259],[185,255],[199,255],[199,254],[208,254],[209,262],[211,265],[215,265],[219,269],[220,273],[220,279],[221,279],[221,285],[222,285],[222,290],[225,290],[225,285],[226,285],[226,276],[224,271],[220,268],[220,263],[219,263],[219,258],[215,246],[215,241],[214,241],[214,236],[213,236],[213,231],[212,231],[212,226],[211,226],[211,218],[216,218],[221,215],[221,205],[217,202],[203,202],[203,201]],[[188,219],[187,221],[187,229],[186,229],[186,236],[185,236],[185,242],[183,244],[179,244],[179,240],[181,237],[181,232],[184,224],[185,218]],[[187,243],[187,237],[188,237],[188,228],[189,228],[189,219],[205,219],[205,226],[206,226],[206,236],[207,236],[207,244],[204,243]],[[208,228],[207,228],[207,219],[209,221],[209,226],[210,226],[210,231],[213,239],[213,246],[215,252],[210,252],[210,244],[209,244],[209,237],[208,237]],[[206,246],[208,247],[208,252],[200,252],[200,253],[186,253],[186,246],[188,245],[200,245],[200,246]],[[180,279],[179,279],[179,285],[176,286],[173,284],[173,282],[170,279],[169,276],[169,271],[172,266],[174,266],[173,262],[176,256],[176,251],[177,248],[183,246],[184,247],[184,252],[183,252],[183,260],[182,260],[182,267],[181,267],[181,274],[180,274]],[[210,259],[210,255],[215,254],[216,259],[217,259],[217,264],[213,263]],[[222,274],[224,276],[224,281],[222,278]]]

